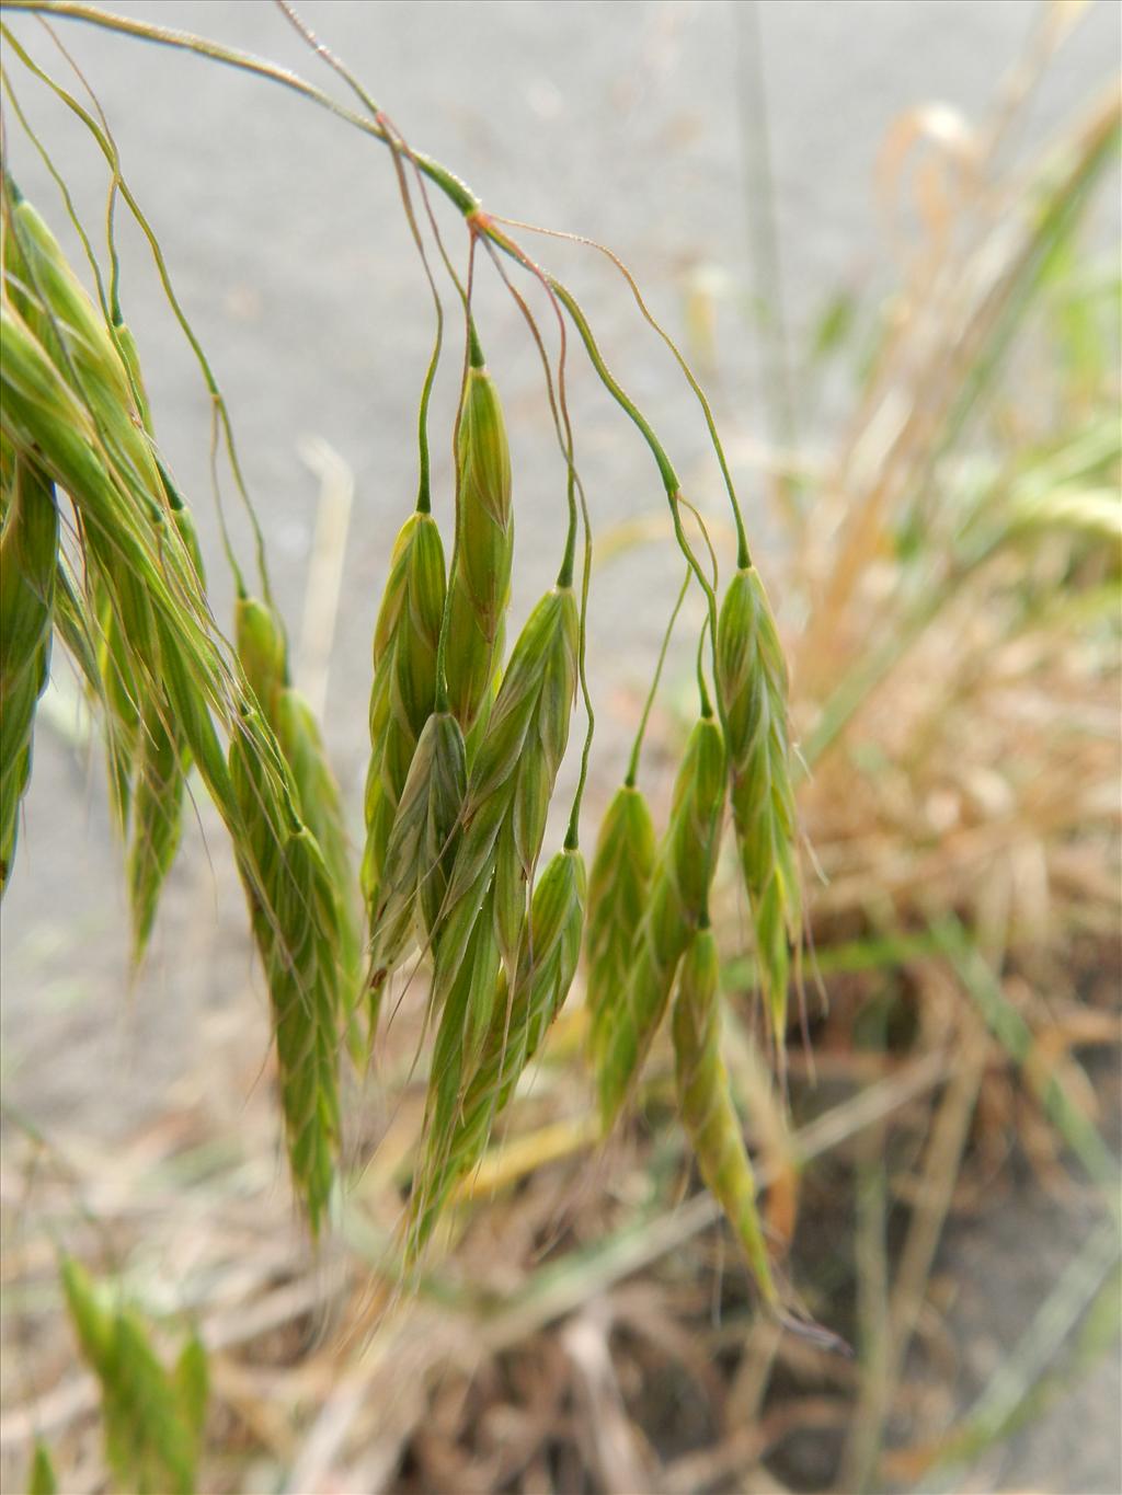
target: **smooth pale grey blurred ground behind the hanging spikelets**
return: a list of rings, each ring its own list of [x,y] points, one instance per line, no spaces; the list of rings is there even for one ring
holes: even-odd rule
[[[331,85],[265,3],[166,0],[118,9],[221,37]],[[589,233],[628,262],[651,305],[702,356],[732,432],[749,523],[766,544],[754,469],[764,423],[741,126],[752,48],[763,48],[785,320],[797,350],[827,296],[868,280],[880,236],[877,154],[892,121],[928,100],[947,102],[966,117],[978,111],[1028,36],[1037,6],[763,3],[758,30],[745,7],[717,3],[322,0],[308,3],[305,13],[370,82],[411,144],[452,164],[489,208]],[[1109,81],[1119,15],[1113,4],[1094,7],[1038,97],[1029,136],[1046,136]],[[13,28],[39,57],[52,55],[27,18],[15,18]],[[322,437],[355,471],[326,722],[358,809],[370,637],[392,534],[416,489],[411,432],[432,336],[428,292],[392,169],[377,145],[268,84],[85,27],[61,34],[117,132],[126,172],[227,393],[268,532],[277,594],[296,634],[317,495],[296,440]],[[79,212],[97,223],[103,175],[81,127],[21,75],[15,60],[10,66],[28,117],[64,164]],[[10,161],[25,193],[60,224],[57,193],[18,130]],[[455,214],[438,211],[452,236]],[[124,306],[138,332],[159,435],[202,516],[221,608],[229,586],[208,496],[206,396],[144,245],[126,226],[121,247]],[[691,492],[718,514],[703,425],[621,283],[591,251],[542,241],[542,254],[571,280],[609,362],[664,432]],[[699,323],[688,315],[699,305],[712,317],[711,339],[699,341]],[[560,558],[564,472],[537,354],[488,266],[480,266],[479,308],[512,428],[515,608],[524,614],[551,583]],[[552,333],[548,309],[539,312]],[[455,329],[453,320],[449,327]],[[432,423],[443,517],[450,511],[455,336],[450,350]],[[658,516],[661,496],[649,457],[579,357],[570,395],[577,457],[601,535]],[[829,425],[800,435],[809,450],[820,449]],[[248,558],[247,531],[229,492],[226,501]],[[666,538],[600,573],[592,664],[604,722],[595,758],[601,792],[621,768],[636,691],[649,671],[678,577]],[[64,665],[58,674],[63,692],[54,719],[64,724]],[[130,987],[120,852],[100,770],[66,731],[51,722],[40,727],[19,861],[3,909],[0,967],[4,1093],[37,1124],[105,1135],[138,1124],[197,1063],[199,1015],[221,1014],[235,996],[244,999],[251,978],[241,898],[212,818],[200,813],[206,843],[188,828],[153,960]],[[260,1003],[257,1012],[263,1023]],[[1022,1232],[1008,1233],[1007,1212],[1017,1208],[1007,1202],[990,1224],[983,1218],[975,1236],[951,1247],[971,1278],[977,1274],[987,1284],[972,1310],[992,1320],[981,1337],[1002,1343],[1037,1299],[1041,1260],[1055,1268],[1080,1238],[1079,1221],[1049,1215],[1029,1230],[1032,1251],[1026,1251]],[[1023,1208],[1025,1218],[1035,1220],[1037,1205],[1026,1200]],[[1041,1256],[1043,1238],[1049,1248]],[[1044,1441],[993,1477],[1004,1488],[1022,1480],[1056,1491],[1118,1489],[1112,1398],[1116,1405],[1116,1366],[1103,1372],[1085,1410],[1061,1411],[1041,1431]]]

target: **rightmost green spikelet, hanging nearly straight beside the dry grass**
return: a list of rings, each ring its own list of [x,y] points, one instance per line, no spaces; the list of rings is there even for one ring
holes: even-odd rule
[[[787,665],[755,568],[732,582],[717,626],[717,689],[729,727],[733,825],[775,1042],[787,1026],[791,949],[802,937],[790,773]]]

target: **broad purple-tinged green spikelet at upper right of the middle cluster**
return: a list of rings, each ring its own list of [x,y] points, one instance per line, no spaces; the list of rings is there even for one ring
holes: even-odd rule
[[[468,779],[464,833],[437,925],[437,1011],[456,978],[492,879],[494,937],[513,975],[549,800],[568,742],[577,632],[573,592],[555,588],[530,614],[510,655]],[[477,997],[482,1005],[467,1026],[470,1058],[477,1057],[491,1021],[492,993],[479,991]]]

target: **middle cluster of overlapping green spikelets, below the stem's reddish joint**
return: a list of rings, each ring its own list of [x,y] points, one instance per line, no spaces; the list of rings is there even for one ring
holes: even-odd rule
[[[416,949],[432,961],[435,1039],[410,1257],[479,1160],[576,973],[585,873],[574,833],[537,876],[577,688],[568,547],[565,556],[503,664],[510,453],[473,333],[450,564],[425,495],[393,549],[374,632],[362,876],[373,1030],[393,973]]]

